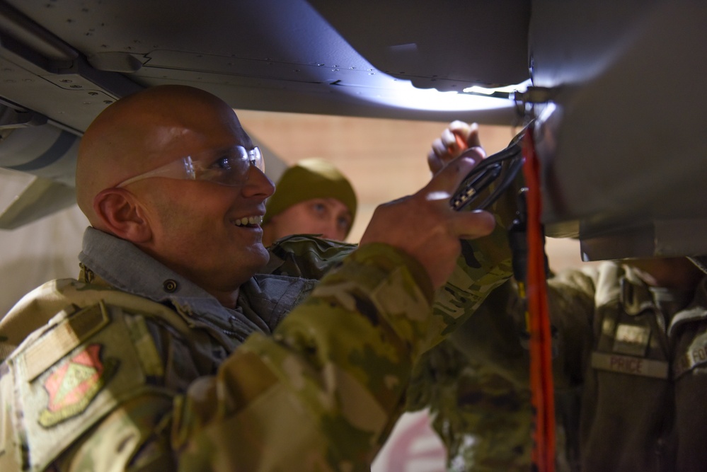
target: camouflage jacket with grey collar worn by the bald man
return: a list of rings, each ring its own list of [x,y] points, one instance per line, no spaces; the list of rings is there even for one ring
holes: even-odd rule
[[[416,260],[303,237],[229,310],[88,229],[79,280],[0,322],[0,470],[368,470],[414,360],[510,274],[484,239],[431,314]]]

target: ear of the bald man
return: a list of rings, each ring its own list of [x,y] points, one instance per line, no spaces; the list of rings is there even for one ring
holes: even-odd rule
[[[132,243],[144,243],[152,236],[149,219],[140,202],[124,188],[107,188],[93,199],[93,211],[105,230]]]

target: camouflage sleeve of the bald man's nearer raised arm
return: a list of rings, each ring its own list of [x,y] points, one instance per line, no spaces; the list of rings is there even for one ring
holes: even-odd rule
[[[369,470],[430,326],[415,260],[360,248],[272,338],[253,335],[190,386],[173,447],[185,470]],[[296,466],[293,466],[296,464]]]

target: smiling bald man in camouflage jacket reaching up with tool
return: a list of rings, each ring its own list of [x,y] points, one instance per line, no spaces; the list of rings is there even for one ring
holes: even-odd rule
[[[365,470],[415,359],[510,274],[503,251],[466,265],[493,215],[449,209],[478,159],[379,207],[358,248],[267,251],[273,185],[229,105],[185,86],[110,105],[79,150],[78,280],[0,321],[0,470]]]

